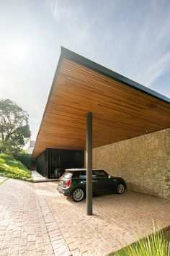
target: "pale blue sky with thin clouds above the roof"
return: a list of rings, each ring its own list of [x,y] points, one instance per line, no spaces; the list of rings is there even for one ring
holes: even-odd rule
[[[170,1],[0,1],[0,98],[37,136],[64,46],[170,98]]]

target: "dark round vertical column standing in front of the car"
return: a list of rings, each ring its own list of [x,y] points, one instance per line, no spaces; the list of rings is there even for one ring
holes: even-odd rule
[[[86,114],[86,214],[92,215],[92,113]]]

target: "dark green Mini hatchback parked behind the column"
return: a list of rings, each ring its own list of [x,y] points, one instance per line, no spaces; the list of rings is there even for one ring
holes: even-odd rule
[[[93,194],[125,192],[125,180],[113,177],[100,168],[93,168],[92,174]],[[86,168],[67,169],[58,182],[58,192],[71,197],[75,202],[80,202],[86,196]]]

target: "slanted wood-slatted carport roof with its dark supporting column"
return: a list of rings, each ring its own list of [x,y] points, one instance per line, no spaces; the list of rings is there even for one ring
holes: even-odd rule
[[[169,98],[61,48],[32,157],[46,148],[86,150],[91,215],[92,148],[169,127]]]

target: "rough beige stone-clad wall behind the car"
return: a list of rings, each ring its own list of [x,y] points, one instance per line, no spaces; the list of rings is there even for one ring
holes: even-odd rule
[[[167,198],[170,129],[94,148],[93,167],[122,176],[130,190]]]

